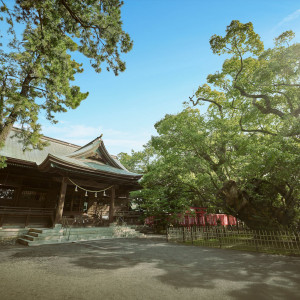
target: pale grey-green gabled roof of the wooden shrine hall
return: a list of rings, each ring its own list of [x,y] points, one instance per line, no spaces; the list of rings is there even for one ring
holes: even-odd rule
[[[0,149],[0,155],[9,159],[18,160],[22,163],[35,164],[41,170],[61,167],[81,169],[83,172],[97,172],[104,174],[115,174],[125,177],[139,179],[141,175],[129,172],[115,157],[111,156],[103,143],[101,137],[98,137],[80,147],[64,141],[49,137],[42,137],[42,140],[48,142],[43,150],[33,149],[23,151],[22,141],[15,135],[18,129],[14,128],[5,145]]]

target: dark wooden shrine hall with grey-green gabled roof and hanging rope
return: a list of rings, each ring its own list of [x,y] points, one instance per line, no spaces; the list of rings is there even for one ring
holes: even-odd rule
[[[110,155],[98,137],[80,147],[43,137],[43,150],[23,151],[14,128],[0,149],[0,228],[101,226],[129,211],[129,192],[140,188],[131,173]]]

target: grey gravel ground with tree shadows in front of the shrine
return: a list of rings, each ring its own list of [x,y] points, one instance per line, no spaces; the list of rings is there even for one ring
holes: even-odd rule
[[[0,248],[0,299],[299,299],[300,258],[110,239]]]

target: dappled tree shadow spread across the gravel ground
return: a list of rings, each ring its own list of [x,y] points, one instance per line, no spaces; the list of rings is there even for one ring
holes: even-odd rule
[[[156,279],[174,288],[223,289],[226,282],[234,283],[237,289],[227,294],[233,299],[299,299],[300,293],[297,257],[168,244],[161,240],[111,239],[20,248],[9,259],[55,256],[68,258],[73,266],[93,270],[153,264],[164,271]]]

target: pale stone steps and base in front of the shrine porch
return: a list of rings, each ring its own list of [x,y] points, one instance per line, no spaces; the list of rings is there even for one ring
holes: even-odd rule
[[[76,241],[100,240],[107,238],[144,237],[130,226],[90,227],[90,228],[31,228],[17,240],[26,246],[71,243]]]

